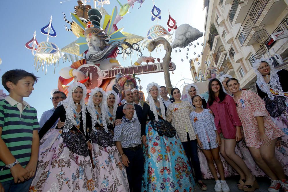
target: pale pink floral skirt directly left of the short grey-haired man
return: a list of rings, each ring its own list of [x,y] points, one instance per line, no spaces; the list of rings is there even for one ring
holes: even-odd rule
[[[126,169],[116,146],[104,148],[97,143],[92,145],[97,191],[129,191]]]

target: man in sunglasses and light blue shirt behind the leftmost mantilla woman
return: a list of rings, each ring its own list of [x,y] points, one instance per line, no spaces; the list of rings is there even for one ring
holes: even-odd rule
[[[52,116],[52,114],[54,113],[58,103],[60,101],[63,101],[63,100],[66,99],[66,95],[65,95],[65,93],[63,93],[63,92],[59,91],[58,89],[56,89],[56,91],[54,91],[52,93],[52,97],[50,99],[52,100],[53,108],[49,109],[48,111],[44,111],[44,113],[41,115],[41,118],[40,118],[40,121],[39,121],[39,125],[40,125],[41,128],[46,123],[46,121]],[[54,128],[57,123],[58,123],[58,120],[54,123],[54,125],[51,128]]]

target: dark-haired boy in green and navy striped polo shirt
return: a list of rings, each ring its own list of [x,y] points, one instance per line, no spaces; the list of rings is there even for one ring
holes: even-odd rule
[[[5,192],[29,191],[36,172],[40,126],[36,109],[23,97],[30,96],[37,78],[22,69],[2,76],[2,85],[9,92],[0,100],[0,182]]]

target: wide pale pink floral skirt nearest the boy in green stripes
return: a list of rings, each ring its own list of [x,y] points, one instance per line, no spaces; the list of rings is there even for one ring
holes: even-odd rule
[[[75,133],[70,131],[66,134]],[[85,140],[84,135],[79,139]],[[90,156],[70,151],[63,143],[61,129],[51,129],[43,136],[40,140],[37,171],[30,192],[95,191],[95,181]]]

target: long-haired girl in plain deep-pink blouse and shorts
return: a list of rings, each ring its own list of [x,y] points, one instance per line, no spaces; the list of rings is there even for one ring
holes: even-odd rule
[[[209,82],[207,109],[211,109],[215,115],[215,126],[221,138],[220,153],[240,175],[238,188],[244,191],[255,191],[259,188],[255,177],[243,159],[235,154],[236,142],[242,139],[240,131],[242,123],[237,114],[236,104],[230,95],[223,92],[218,79],[211,79]]]

